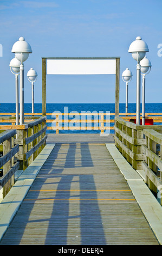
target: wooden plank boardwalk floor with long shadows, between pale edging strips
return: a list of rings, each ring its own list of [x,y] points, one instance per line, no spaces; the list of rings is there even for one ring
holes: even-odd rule
[[[113,137],[56,136],[0,245],[158,245],[105,146]]]

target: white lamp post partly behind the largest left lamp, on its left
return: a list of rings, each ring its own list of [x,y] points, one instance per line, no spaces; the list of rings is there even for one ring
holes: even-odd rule
[[[18,109],[18,75],[20,74],[21,62],[15,58],[10,61],[10,70],[15,75],[15,92],[16,92],[16,125],[18,125],[19,109]]]

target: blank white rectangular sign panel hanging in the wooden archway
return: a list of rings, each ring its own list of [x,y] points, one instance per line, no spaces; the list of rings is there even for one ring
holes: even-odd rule
[[[47,75],[116,74],[116,59],[47,59]]]

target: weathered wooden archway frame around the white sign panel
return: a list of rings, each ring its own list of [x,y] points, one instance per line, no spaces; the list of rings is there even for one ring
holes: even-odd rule
[[[110,60],[115,59],[115,73],[103,74],[115,74],[115,117],[119,116],[119,81],[120,81],[120,57],[85,57],[85,58],[59,58],[59,57],[42,57],[42,115],[46,116],[46,75],[47,75],[47,59],[57,60]],[[76,73],[75,73],[76,74]],[[97,73],[98,74],[98,73]],[[100,73],[102,74],[102,72]]]

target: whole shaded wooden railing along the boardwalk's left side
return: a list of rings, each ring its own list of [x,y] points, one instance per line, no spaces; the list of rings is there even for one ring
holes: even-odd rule
[[[14,185],[15,172],[27,169],[46,145],[46,117],[29,120],[0,126],[0,202]]]

